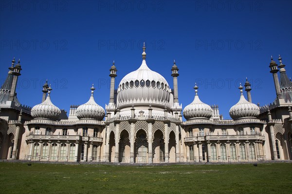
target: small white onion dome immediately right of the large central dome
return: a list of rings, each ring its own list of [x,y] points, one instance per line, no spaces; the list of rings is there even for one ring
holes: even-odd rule
[[[196,84],[194,87],[196,92],[194,101],[188,106],[185,106],[185,108],[183,109],[183,116],[186,120],[194,118],[210,119],[212,116],[212,108],[209,105],[201,102],[198,96],[198,88],[199,87]]]

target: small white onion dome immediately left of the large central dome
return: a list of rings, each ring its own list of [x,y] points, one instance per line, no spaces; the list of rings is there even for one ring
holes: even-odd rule
[[[78,106],[76,109],[76,116],[78,119],[95,119],[95,120],[103,120],[105,116],[105,110],[103,107],[97,105],[93,98],[93,84],[91,89],[91,97],[89,101],[81,106]]]

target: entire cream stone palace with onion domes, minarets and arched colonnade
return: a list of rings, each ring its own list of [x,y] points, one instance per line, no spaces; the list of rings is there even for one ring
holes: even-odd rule
[[[247,99],[240,85],[234,96],[238,102],[229,111],[232,120],[224,120],[218,106],[200,100],[197,85],[194,100],[189,96],[191,103],[183,108],[178,66],[174,62],[171,68],[170,88],[161,74],[147,66],[145,50],[144,46],[141,66],[118,86],[113,63],[108,105],[97,104],[92,85],[84,96],[88,102],[71,106],[68,115],[53,104],[57,96],[47,82],[42,103],[30,107],[18,101],[22,69],[20,61],[16,64],[13,59],[0,89],[0,159],[131,164],[292,159],[292,82],[280,56],[279,65],[272,58],[269,66],[274,102],[253,104],[246,80]]]

